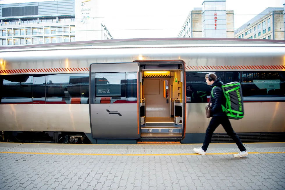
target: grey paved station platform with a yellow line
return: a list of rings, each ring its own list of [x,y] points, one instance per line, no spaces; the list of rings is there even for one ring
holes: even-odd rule
[[[2,189],[285,189],[285,143],[0,143]]]

